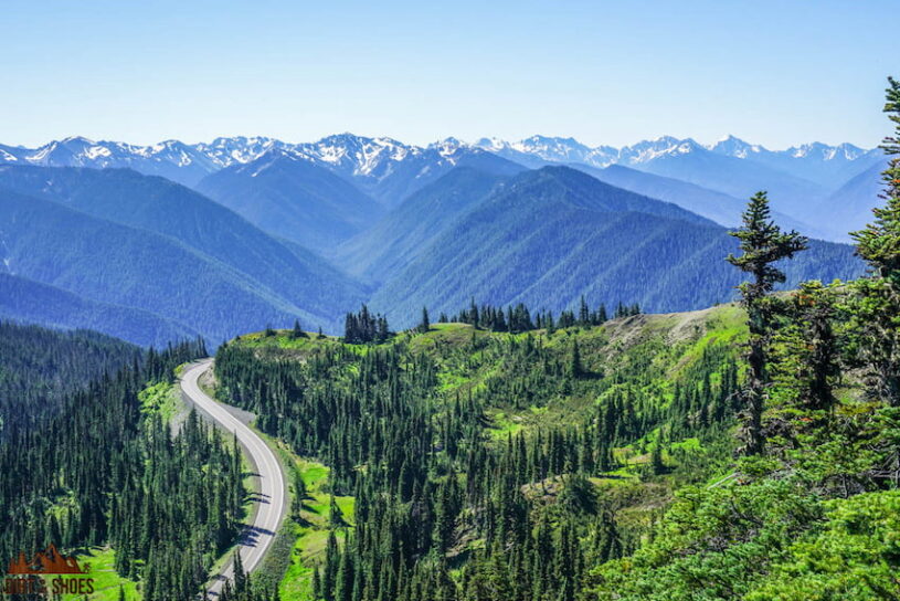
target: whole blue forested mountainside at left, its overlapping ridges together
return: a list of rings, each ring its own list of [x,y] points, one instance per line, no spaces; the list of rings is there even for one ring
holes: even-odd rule
[[[162,178],[4,167],[0,181],[2,272],[68,292],[82,304],[151,314],[169,321],[170,333],[195,331],[218,342],[271,321],[329,327],[341,303],[347,309],[363,298],[361,286],[309,251],[288,249]],[[77,299],[61,299],[44,314],[38,304],[22,307],[14,292],[1,303],[10,317],[85,325],[72,307]],[[157,341],[162,329],[110,326],[104,330],[133,341]]]

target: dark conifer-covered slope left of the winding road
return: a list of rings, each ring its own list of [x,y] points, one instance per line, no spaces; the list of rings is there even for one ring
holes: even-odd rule
[[[0,440],[0,470],[14,475],[0,479],[2,569],[50,545],[88,560],[99,549],[118,577],[104,599],[193,597],[232,545],[245,494],[232,442],[193,413],[167,423],[174,369],[204,356],[202,342],[145,352],[2,325],[0,351],[1,407],[17,412]]]

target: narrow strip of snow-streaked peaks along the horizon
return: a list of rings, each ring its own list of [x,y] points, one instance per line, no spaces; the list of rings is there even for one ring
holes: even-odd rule
[[[466,144],[456,138],[445,138],[427,146],[404,144],[389,137],[366,137],[350,133],[327,136],[313,143],[287,143],[268,137],[220,137],[211,143],[186,144],[165,140],[155,145],[139,146],[120,141],[93,141],[75,136],[54,140],[36,148],[0,145],[0,164],[39,165],[47,167],[130,167],[150,175],[163,175],[172,169],[181,170],[176,181],[193,184],[202,177],[233,165],[252,162],[266,152],[278,149],[329,166],[333,171],[354,178],[381,180],[398,165],[433,156],[456,166],[464,156],[487,151],[534,167],[537,162],[582,162],[593,167],[611,165],[640,166],[664,156],[691,152],[712,152],[743,160],[754,160],[776,167],[785,172],[798,171],[814,177],[825,172],[815,167],[826,165],[833,171],[841,171],[843,183],[861,172],[868,161],[880,157],[878,149],[864,149],[851,144],[830,146],[811,143],[785,150],[769,150],[756,144],[728,136],[714,144],[701,145],[692,138],[661,136],[634,145],[591,147],[574,138],[531,136],[519,141],[499,138],[480,138]],[[811,167],[813,166],[813,167]],[[859,169],[845,172],[844,167]],[[168,176],[167,176],[168,177]],[[803,177],[798,175],[797,177]],[[830,184],[830,183],[829,183]]]

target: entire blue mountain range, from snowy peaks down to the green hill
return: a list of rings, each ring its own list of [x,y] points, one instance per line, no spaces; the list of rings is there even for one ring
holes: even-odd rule
[[[0,146],[0,316],[96,327],[105,312],[116,318],[99,329],[146,345],[294,319],[336,331],[363,302],[394,321],[472,297],[697,308],[733,297],[726,228],[747,197],[765,189],[783,226],[846,241],[878,202],[883,162],[733,137]],[[850,246],[816,241],[787,284],[860,270]]]

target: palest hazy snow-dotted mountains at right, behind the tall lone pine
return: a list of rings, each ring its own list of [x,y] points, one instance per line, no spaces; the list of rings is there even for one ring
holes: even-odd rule
[[[629,189],[679,203],[722,224],[732,224],[737,213],[722,213],[719,205],[724,198],[716,198],[716,193],[747,199],[758,190],[767,190],[780,222],[830,240],[846,240],[832,219],[841,210],[829,204],[832,193],[882,162],[879,149],[866,150],[850,144],[813,143],[769,150],[734,136],[710,146],[671,136],[622,148],[592,148],[573,138],[542,136],[518,143],[483,138],[475,146],[532,168],[568,162],[604,179],[601,171],[591,169],[620,166],[665,177],[667,180],[638,184],[633,173],[625,177],[625,172],[614,170],[605,179],[626,188],[632,184]],[[686,188],[685,183],[706,191]]]

